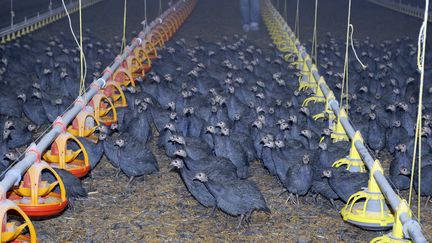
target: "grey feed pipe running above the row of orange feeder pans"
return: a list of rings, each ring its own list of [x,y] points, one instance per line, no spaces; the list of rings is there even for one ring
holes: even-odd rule
[[[153,27],[163,22],[164,18],[169,16],[176,8],[181,6],[186,0],[180,0],[174,4],[171,8],[167,9],[161,16],[153,20],[147,30],[141,31],[137,38],[133,39],[131,45],[125,48],[125,51],[115,58],[114,63],[107,67],[108,70],[114,72],[121,65],[121,63],[132,53],[132,51],[145,41],[145,37]],[[67,125],[82,111],[87,105],[88,101],[99,92],[101,88],[104,88],[107,80],[112,75],[112,72],[105,72],[102,77],[92,82],[88,91],[74,101],[73,106],[66,111],[61,117],[58,117],[51,128],[51,130],[45,134],[41,140],[35,144],[31,144],[25,153],[25,157],[12,166],[5,174],[0,182],[0,198],[6,198],[6,192],[14,185],[18,185],[21,181],[22,175],[30,166],[39,161],[42,157],[42,152],[45,151],[48,146],[60,135],[66,131]]]

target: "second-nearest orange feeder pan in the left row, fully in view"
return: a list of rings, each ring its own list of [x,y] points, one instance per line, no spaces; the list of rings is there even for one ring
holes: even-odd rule
[[[42,171],[49,170],[56,181],[42,181]],[[59,186],[60,193],[53,192]],[[15,202],[29,217],[50,217],[61,213],[68,205],[66,190],[60,176],[45,161],[34,163],[19,186],[12,188],[8,199]]]

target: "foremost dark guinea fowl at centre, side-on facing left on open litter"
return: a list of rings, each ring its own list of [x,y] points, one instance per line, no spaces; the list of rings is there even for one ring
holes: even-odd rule
[[[270,213],[270,209],[255,183],[248,180],[231,180],[218,182],[204,173],[197,173],[194,179],[205,185],[207,190],[216,199],[216,205],[223,212],[240,216],[237,229],[242,226],[243,220],[250,221],[255,210]]]

